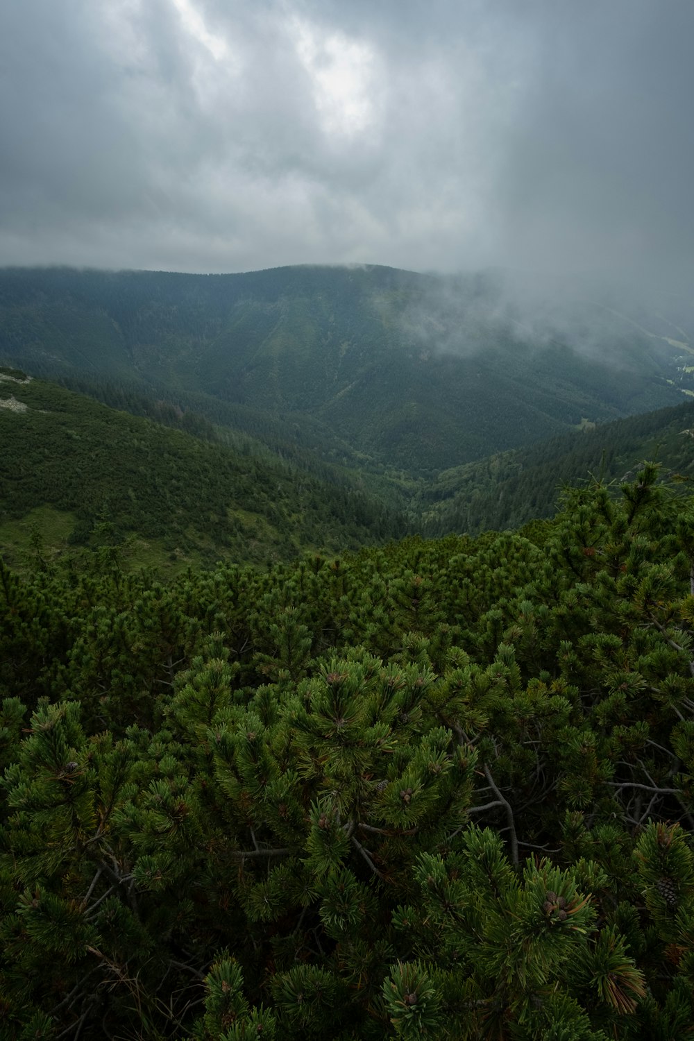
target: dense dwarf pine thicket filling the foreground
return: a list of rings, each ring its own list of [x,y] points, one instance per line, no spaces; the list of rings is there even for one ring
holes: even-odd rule
[[[694,500],[169,585],[0,565],[12,1039],[694,1030]]]

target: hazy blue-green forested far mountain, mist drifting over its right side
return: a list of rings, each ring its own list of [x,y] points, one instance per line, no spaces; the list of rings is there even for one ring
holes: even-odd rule
[[[572,291],[555,313],[518,303],[498,274],[6,269],[0,360],[281,416],[312,427],[328,457],[346,445],[420,474],[680,398],[686,306],[668,321]]]

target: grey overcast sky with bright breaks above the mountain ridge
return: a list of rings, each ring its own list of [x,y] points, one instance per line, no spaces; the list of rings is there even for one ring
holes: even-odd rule
[[[2,0],[0,263],[694,275],[692,0]]]

